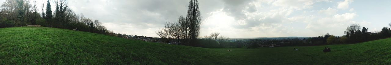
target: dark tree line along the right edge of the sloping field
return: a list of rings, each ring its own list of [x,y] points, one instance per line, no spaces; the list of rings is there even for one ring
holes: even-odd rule
[[[391,27],[391,23],[389,24]],[[325,34],[325,36],[312,37],[304,40],[303,46],[320,44],[343,44],[343,43],[361,43],[376,39],[388,38],[391,36],[390,27],[383,27],[380,32],[368,32],[367,27],[361,27],[359,24],[352,24],[346,28],[343,36],[334,36]]]

